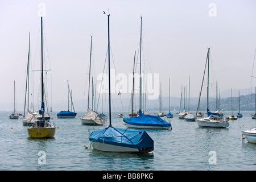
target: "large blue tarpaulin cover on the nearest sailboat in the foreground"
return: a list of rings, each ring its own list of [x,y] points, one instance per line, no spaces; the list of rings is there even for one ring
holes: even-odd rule
[[[89,140],[138,149],[154,147],[154,140],[146,131],[121,129],[113,126],[93,131],[89,136]]]

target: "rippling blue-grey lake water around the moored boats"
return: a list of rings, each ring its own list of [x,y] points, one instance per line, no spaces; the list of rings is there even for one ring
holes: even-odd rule
[[[242,118],[230,121],[228,129],[202,128],[196,122],[178,119],[173,113],[172,130],[146,130],[154,140],[154,151],[149,154],[93,150],[88,139],[88,129],[93,126],[81,125],[79,118],[84,112],[77,112],[74,119],[58,119],[56,113],[50,114],[58,127],[55,138],[32,139],[22,119],[11,120],[9,112],[0,111],[1,171],[256,170],[256,144],[242,141],[241,133],[256,126],[250,117],[253,112],[243,112]],[[113,126],[126,127],[122,118],[112,118]],[[40,160],[44,156],[45,160]]]

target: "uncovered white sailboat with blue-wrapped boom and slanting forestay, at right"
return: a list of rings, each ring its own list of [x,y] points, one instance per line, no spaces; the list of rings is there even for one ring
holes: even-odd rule
[[[196,119],[196,122],[197,122],[197,125],[200,126],[200,127],[221,127],[221,128],[226,128],[226,127],[229,127],[229,122],[224,120],[222,117],[220,117],[220,114],[212,113],[209,110],[209,56],[210,56],[210,48],[208,48],[207,61],[205,63],[205,69],[206,69],[207,62],[208,62],[207,117]],[[204,75],[205,75],[205,69],[204,69]],[[198,111],[199,104],[200,104],[200,97],[201,97],[201,92],[202,92],[202,88],[203,88],[203,83],[204,83],[204,76],[203,76],[203,81],[202,81],[202,85],[201,85],[201,90],[200,90],[200,96],[199,96],[199,102],[198,102],[198,105],[197,105],[196,115],[197,115],[197,111]]]

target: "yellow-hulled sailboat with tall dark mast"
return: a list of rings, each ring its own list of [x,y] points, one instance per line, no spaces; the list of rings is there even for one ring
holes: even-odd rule
[[[27,127],[28,135],[32,138],[52,138],[56,127],[44,118],[44,79],[43,79],[43,16],[41,16],[41,109],[40,117],[32,116],[32,125]]]

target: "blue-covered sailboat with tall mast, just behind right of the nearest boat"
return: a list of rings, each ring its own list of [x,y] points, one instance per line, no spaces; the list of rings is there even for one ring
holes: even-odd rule
[[[142,44],[142,16],[141,16],[141,39],[140,39],[140,69],[139,69],[139,115],[137,117],[123,118],[123,122],[127,127],[139,129],[172,129],[169,122],[164,121],[158,115],[143,114],[141,111],[141,90],[142,90],[142,77],[141,77],[141,44]]]

